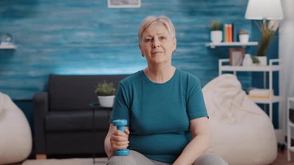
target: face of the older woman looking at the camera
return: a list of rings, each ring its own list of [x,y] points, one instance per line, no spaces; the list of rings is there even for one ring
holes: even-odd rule
[[[171,54],[176,47],[176,39],[171,38],[164,24],[150,25],[143,31],[142,45],[139,44],[142,55],[148,63],[171,63]]]

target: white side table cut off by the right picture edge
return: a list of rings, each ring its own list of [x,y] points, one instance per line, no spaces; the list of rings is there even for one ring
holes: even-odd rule
[[[294,97],[288,97],[287,102],[287,158],[288,162],[291,161],[291,152],[294,152],[294,146],[291,146],[291,127],[294,127],[294,123],[290,120],[290,102],[294,102]]]

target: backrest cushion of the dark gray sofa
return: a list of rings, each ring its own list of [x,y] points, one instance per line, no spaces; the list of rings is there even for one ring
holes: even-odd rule
[[[49,75],[49,110],[91,109],[89,103],[98,102],[97,82],[119,82],[128,75]]]

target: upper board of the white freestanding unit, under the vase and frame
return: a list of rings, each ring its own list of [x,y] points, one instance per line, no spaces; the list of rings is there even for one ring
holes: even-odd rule
[[[261,72],[261,71],[279,71],[280,66],[221,66],[222,71],[244,71],[244,72]]]

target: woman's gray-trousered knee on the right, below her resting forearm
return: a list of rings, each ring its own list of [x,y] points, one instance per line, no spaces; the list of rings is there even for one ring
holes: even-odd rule
[[[196,159],[193,165],[228,165],[228,164],[218,155],[203,154]]]

